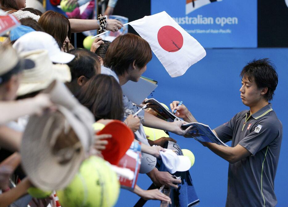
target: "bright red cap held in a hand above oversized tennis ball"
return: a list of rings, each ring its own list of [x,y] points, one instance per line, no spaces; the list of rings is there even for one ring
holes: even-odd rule
[[[112,135],[111,138],[106,139],[108,144],[101,153],[105,160],[117,165],[134,140],[133,132],[121,121],[113,120],[97,133],[97,135],[100,134]]]

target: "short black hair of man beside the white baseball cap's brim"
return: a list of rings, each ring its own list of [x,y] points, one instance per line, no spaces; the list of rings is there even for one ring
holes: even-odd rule
[[[97,71],[100,71],[101,65],[95,53],[85,49],[73,49],[69,53],[75,55],[75,58],[70,63],[67,63],[71,71],[71,82],[81,75],[90,79],[96,75]],[[95,70],[95,66],[97,67],[97,71]]]

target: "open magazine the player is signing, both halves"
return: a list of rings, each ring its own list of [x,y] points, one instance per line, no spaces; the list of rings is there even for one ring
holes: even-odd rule
[[[147,108],[153,109],[157,113],[157,117],[163,119],[168,122],[173,122],[175,119],[180,120],[177,116],[175,116],[169,109],[164,107],[160,102],[156,99],[147,99],[145,104],[150,103]],[[223,146],[228,146],[224,142],[222,142],[217,136],[214,135],[211,128],[208,125],[193,122],[188,124],[182,124],[182,129],[188,132],[184,135],[186,138],[194,138],[197,141],[201,142],[212,142]]]

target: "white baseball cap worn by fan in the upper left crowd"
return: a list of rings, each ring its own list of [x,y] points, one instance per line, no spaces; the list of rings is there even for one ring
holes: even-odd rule
[[[18,53],[45,49],[53,63],[66,64],[75,58],[75,55],[62,52],[56,40],[50,34],[40,31],[24,34],[16,40],[13,47]]]

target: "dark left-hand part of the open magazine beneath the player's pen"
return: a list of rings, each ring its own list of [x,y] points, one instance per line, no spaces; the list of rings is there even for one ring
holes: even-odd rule
[[[174,122],[175,118],[177,118],[177,116],[172,114],[169,109],[164,107],[155,99],[148,99],[145,101],[145,103],[151,103],[147,106],[147,108],[153,109],[157,113],[156,117],[158,117],[159,119],[163,119],[168,122]]]

